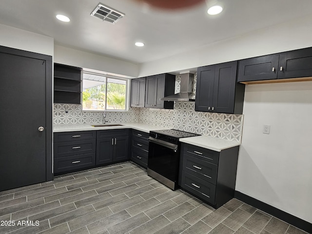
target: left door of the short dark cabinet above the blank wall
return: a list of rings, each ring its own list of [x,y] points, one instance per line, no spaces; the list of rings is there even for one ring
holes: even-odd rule
[[[237,81],[276,79],[278,55],[267,55],[238,61]]]

